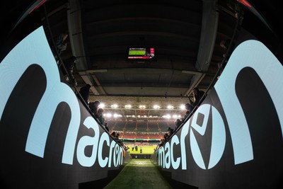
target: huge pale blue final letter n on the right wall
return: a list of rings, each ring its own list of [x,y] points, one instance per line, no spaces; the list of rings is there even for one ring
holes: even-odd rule
[[[250,50],[253,50],[253,53]],[[238,73],[245,67],[253,68],[265,84],[274,102],[283,132],[282,98],[279,95],[283,93],[283,89],[278,88],[278,86],[283,86],[282,64],[261,42],[247,40],[233,51],[229,64],[227,64],[225,71],[214,86],[231,132],[235,164],[241,164],[253,159],[253,144],[250,139],[248,123],[241,104],[239,101],[235,101],[238,99],[235,88],[231,87],[235,86]],[[266,73],[272,73],[272,76]],[[275,82],[277,84],[274,84]],[[241,134],[238,134],[238,131],[241,131]]]

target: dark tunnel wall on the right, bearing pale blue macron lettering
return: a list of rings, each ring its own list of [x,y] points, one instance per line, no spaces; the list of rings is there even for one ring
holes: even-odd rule
[[[196,188],[282,188],[283,67],[257,40],[242,42],[213,90],[154,154]]]

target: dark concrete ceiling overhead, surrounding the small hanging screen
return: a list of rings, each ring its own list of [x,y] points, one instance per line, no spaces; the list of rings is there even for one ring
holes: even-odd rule
[[[78,57],[77,88],[91,84],[95,96],[206,91],[225,52],[219,42],[232,38],[236,25],[231,8],[210,0],[71,0],[50,4],[47,15],[52,36],[69,32],[62,59]],[[127,47],[154,47],[156,60],[127,60]]]

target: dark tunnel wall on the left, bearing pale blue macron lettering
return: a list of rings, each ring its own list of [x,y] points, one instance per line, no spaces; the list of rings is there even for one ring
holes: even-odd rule
[[[0,64],[1,188],[79,188],[108,178],[125,151],[60,81],[42,27]]]

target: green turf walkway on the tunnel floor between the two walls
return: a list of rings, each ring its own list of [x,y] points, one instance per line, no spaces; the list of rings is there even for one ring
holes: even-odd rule
[[[161,176],[157,166],[151,163],[150,159],[132,159],[122,171],[105,186],[105,189],[113,188],[172,188],[171,185]]]

